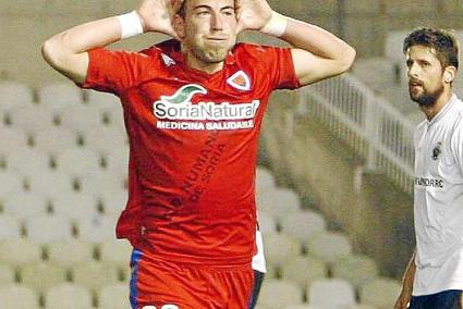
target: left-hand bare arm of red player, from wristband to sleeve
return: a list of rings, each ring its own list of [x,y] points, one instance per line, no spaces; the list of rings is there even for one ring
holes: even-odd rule
[[[107,46],[121,38],[118,17],[89,22],[45,41],[41,48],[44,59],[57,71],[74,82],[83,83],[88,67],[87,50]]]

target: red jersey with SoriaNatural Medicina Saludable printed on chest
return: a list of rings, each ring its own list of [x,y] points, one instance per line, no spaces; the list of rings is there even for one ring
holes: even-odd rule
[[[290,49],[237,44],[214,74],[173,40],[89,60],[83,87],[121,98],[130,139],[118,237],[169,260],[251,262],[258,135],[271,90],[298,87]]]

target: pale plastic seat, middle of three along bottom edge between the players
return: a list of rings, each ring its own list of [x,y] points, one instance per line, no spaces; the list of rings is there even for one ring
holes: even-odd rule
[[[320,279],[307,288],[308,304],[326,309],[355,305],[354,287],[345,280]]]

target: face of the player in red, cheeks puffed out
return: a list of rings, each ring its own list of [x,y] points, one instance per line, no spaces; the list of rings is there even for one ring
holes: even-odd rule
[[[236,42],[233,0],[188,0],[181,26],[188,57],[203,63],[220,63]]]

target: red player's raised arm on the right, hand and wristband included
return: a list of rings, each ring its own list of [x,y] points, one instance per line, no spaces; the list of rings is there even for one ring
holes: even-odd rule
[[[294,47],[292,57],[301,85],[342,74],[351,67],[355,50],[331,33],[272,11],[266,0],[236,3],[240,32],[260,30]]]

